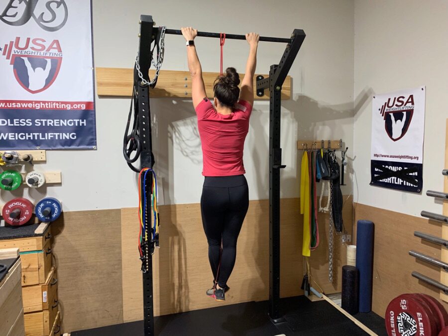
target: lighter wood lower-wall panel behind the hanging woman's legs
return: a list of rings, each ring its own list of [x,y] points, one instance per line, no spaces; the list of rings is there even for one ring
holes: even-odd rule
[[[281,200],[281,296],[303,294],[302,216],[299,199]],[[232,290],[225,304],[268,299],[269,292],[269,203],[251,201],[238,238],[237,260],[229,280]],[[136,208],[121,210],[123,320],[143,317],[141,262],[136,249],[138,219]],[[165,315],[223,305],[210,300],[205,290],[213,284],[207,257],[200,205],[159,207],[160,249],[154,254],[154,314]],[[352,198],[343,211],[348,233],[351,233]],[[335,237],[334,283],[328,281],[328,215],[320,214],[320,247],[312,252],[312,273],[327,293],[340,291],[338,268],[345,263],[345,247]]]

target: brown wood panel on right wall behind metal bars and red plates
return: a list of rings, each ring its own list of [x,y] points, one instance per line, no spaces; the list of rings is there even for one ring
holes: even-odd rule
[[[439,298],[438,289],[412,277],[411,272],[439,279],[440,268],[417,261],[408,252],[414,249],[440,259],[440,246],[415,237],[414,231],[440,236],[443,224],[359,203],[354,204],[354,214],[355,221],[375,224],[372,310],[376,314],[384,317],[389,302],[403,293]],[[448,309],[448,304],[444,303],[444,307]]]

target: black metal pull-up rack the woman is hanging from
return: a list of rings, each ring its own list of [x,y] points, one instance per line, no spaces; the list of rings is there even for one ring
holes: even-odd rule
[[[140,42],[139,59],[143,79],[149,82],[148,71],[151,65],[150,47],[151,44],[160,37],[161,28],[155,27],[155,23],[150,15],[140,16]],[[182,34],[180,30],[166,29],[166,34]],[[198,32],[198,36],[219,38],[220,33]],[[226,39],[245,39],[244,35],[226,34]],[[282,165],[282,149],[280,147],[280,120],[281,120],[281,90],[282,85],[288,75],[291,66],[299,52],[305,39],[305,32],[302,29],[294,29],[290,38],[260,37],[260,41],[287,43],[283,56],[279,64],[270,67],[269,78],[257,77],[257,96],[264,96],[264,90],[269,89],[270,109],[269,109],[269,317],[273,323],[282,322],[279,312],[280,301],[280,169]],[[151,168],[154,165],[151,139],[151,118],[149,107],[150,88],[143,85],[138,77],[138,71],[134,69],[134,82],[137,82],[138,99],[134,108],[138,109],[139,134],[142,138],[140,165],[141,169]],[[152,175],[141,186],[142,194],[149,203],[151,199]],[[144,196],[144,195],[141,195]],[[143,201],[142,201],[143,202]],[[142,204],[143,209],[150,209],[150,204]],[[145,232],[151,236],[149,216],[143,216],[145,221]],[[148,225],[149,224],[149,225]],[[148,228],[149,227],[149,228]],[[149,232],[148,232],[149,230]],[[154,247],[158,245],[158,237],[151,239],[143,245],[142,272],[143,272],[143,316],[144,335],[154,334],[154,307],[153,307],[153,279],[152,279],[152,253]]]

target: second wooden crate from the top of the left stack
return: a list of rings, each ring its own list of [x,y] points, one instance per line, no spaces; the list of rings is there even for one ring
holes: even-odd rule
[[[40,251],[20,252],[22,286],[44,284],[52,266],[50,239]]]

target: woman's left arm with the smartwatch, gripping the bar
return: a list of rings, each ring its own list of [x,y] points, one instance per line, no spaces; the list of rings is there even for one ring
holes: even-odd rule
[[[182,28],[182,35],[186,41],[193,41],[198,35],[198,30],[192,27]],[[196,47],[194,45],[187,46],[188,69],[191,74],[191,95],[193,106],[196,108],[201,101],[206,98],[204,80],[202,78],[202,68],[199,62]]]

